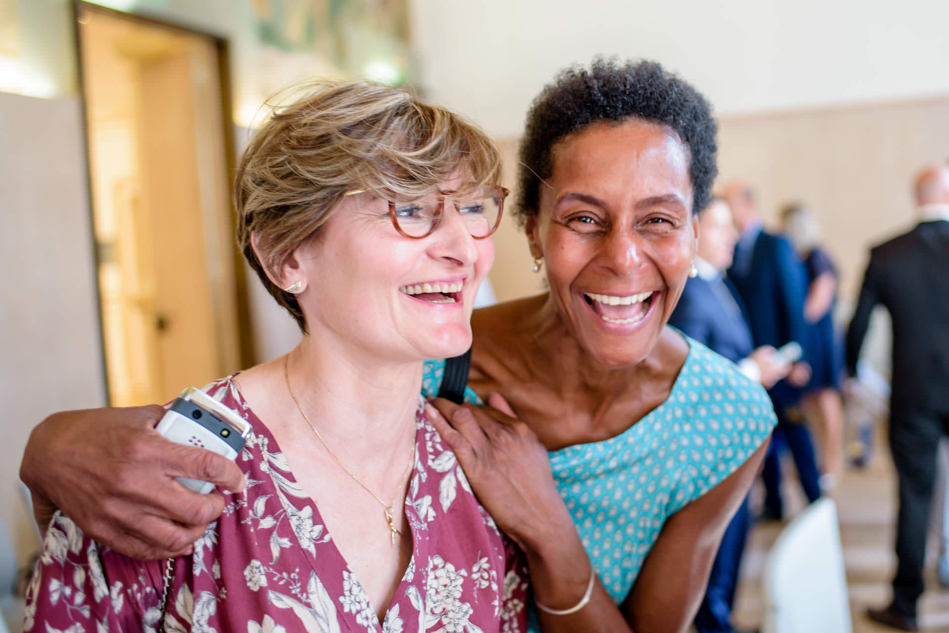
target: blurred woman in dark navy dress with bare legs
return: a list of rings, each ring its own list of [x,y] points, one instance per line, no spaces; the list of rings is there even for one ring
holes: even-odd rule
[[[833,488],[844,469],[844,405],[841,376],[844,348],[833,322],[837,304],[837,266],[821,244],[820,226],[809,208],[791,203],[781,210],[784,234],[808,273],[804,319],[808,323],[807,357],[810,381],[801,404],[818,429],[821,447],[821,488]]]

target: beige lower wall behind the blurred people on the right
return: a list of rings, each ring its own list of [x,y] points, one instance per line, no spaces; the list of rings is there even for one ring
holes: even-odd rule
[[[791,200],[813,209],[854,299],[868,248],[915,224],[915,172],[949,158],[949,97],[723,117],[718,141],[718,182],[751,182],[766,224]]]

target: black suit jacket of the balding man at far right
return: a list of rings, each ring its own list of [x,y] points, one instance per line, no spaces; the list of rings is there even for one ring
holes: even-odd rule
[[[870,251],[847,330],[851,374],[877,304],[893,319],[892,410],[949,413],[949,222],[922,222]]]

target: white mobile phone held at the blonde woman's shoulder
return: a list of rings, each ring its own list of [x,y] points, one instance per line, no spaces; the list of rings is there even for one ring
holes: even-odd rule
[[[194,387],[181,391],[155,428],[172,442],[206,448],[229,460],[236,459],[251,432],[251,425],[236,411]],[[214,490],[210,481],[175,479],[202,495]]]

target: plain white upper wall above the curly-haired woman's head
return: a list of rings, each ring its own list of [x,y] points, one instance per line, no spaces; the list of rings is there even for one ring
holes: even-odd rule
[[[721,114],[949,92],[936,0],[412,0],[428,96],[520,134],[554,73],[594,55],[657,60]]]

